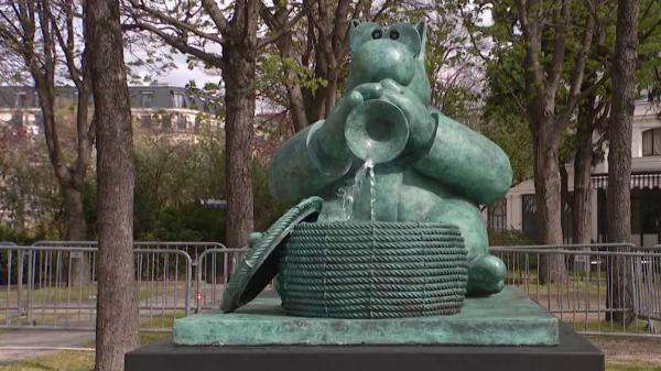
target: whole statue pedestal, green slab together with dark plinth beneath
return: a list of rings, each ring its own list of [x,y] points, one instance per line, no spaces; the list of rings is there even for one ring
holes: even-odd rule
[[[604,354],[516,287],[460,314],[399,319],[285,316],[277,296],[237,313],[178,319],[173,340],[137,349],[126,371],[603,371]]]

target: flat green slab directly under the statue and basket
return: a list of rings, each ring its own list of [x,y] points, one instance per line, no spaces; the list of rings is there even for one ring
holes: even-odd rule
[[[174,343],[267,345],[557,345],[557,319],[516,287],[467,298],[454,316],[333,319],[285,316],[277,296],[261,296],[237,313],[177,319]]]

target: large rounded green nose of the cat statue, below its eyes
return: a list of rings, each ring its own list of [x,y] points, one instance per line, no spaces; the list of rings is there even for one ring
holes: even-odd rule
[[[408,86],[413,79],[415,65],[407,47],[390,40],[371,40],[353,53],[350,74],[360,83],[378,83],[391,78]]]

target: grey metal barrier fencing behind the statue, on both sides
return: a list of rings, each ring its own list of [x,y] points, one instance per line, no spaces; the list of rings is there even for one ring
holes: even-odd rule
[[[583,334],[661,336],[661,245],[492,247],[507,284]],[[93,329],[96,242],[0,242],[0,327]],[[143,329],[215,310],[247,249],[206,242],[136,242]]]

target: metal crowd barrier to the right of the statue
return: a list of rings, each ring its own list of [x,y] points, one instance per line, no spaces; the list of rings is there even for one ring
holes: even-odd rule
[[[512,245],[490,251],[508,268],[506,284],[520,287],[578,332],[661,337],[661,247]]]

